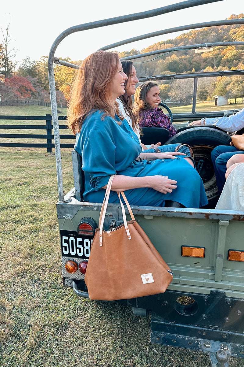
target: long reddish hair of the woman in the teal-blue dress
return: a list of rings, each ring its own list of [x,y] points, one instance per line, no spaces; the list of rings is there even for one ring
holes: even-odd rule
[[[80,132],[85,117],[92,110],[103,110],[102,118],[115,117],[115,113],[119,112],[110,92],[118,64],[119,56],[115,52],[97,51],[80,65],[71,87],[67,114],[67,125],[74,135]]]

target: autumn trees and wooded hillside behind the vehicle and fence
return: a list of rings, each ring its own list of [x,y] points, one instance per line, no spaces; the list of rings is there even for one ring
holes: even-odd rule
[[[233,14],[228,19],[235,18],[244,18],[244,14]],[[155,43],[140,51],[135,49],[123,51],[120,53],[120,57],[188,44],[224,41],[244,41],[244,26],[225,25],[191,30],[174,39]],[[10,46],[10,24],[8,24],[5,30],[2,29],[2,40],[0,39],[1,99],[28,98],[49,102],[48,57],[42,56],[39,60],[33,61],[27,56],[19,65],[16,65],[14,63],[15,48]],[[70,58],[60,57],[60,59],[76,65],[82,62]],[[244,50],[241,46],[215,47],[213,51],[202,54],[195,53],[194,50],[181,50],[157,58],[152,56],[136,59],[134,66],[138,76],[244,69]],[[68,100],[70,87],[77,70],[56,64],[54,69],[57,102],[62,105]],[[161,98],[164,101],[172,99],[180,101],[182,104],[188,104],[192,100],[192,79],[162,81],[159,88]],[[242,76],[200,78],[197,100],[211,100],[214,95],[243,98],[244,78]]]

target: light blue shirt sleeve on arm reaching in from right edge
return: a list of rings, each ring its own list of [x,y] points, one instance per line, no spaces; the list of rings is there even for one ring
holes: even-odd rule
[[[244,108],[235,115],[231,115],[229,117],[207,117],[205,119],[205,125],[217,126],[222,130],[229,132],[241,130],[244,127]]]

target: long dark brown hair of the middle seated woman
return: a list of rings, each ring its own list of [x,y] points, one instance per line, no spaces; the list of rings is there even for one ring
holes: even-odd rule
[[[125,80],[125,82],[124,82],[125,92],[124,92],[124,94],[122,94],[120,96],[120,100],[123,103],[125,111],[128,113],[129,117],[131,118],[132,129],[134,131],[136,131],[136,129],[140,131],[140,128],[139,128],[138,123],[137,123],[137,118],[134,115],[133,110],[132,110],[131,95],[129,95],[127,93],[127,90],[126,90],[127,89],[127,84],[129,86],[129,83],[130,83],[130,75],[131,75],[131,72],[132,72],[133,62],[129,61],[129,60],[121,60],[121,64],[122,64],[123,72],[128,76],[128,79]],[[140,131],[140,134],[142,135],[141,131]]]

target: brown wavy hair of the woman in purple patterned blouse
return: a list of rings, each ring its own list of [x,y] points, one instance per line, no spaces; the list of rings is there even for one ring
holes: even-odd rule
[[[152,81],[145,81],[136,88],[133,112],[137,118],[137,123],[139,123],[143,118],[143,116],[139,117],[143,110],[152,109],[152,106],[147,104],[146,96],[147,92],[155,86],[158,87],[158,84]]]

